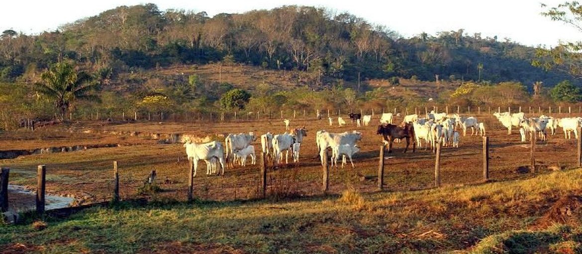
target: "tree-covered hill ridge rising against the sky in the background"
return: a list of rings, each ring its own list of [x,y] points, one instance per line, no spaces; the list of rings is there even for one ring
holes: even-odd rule
[[[406,21],[403,21],[406,22]],[[427,22],[430,22],[427,20]],[[459,24],[462,26],[462,24]],[[282,6],[242,14],[120,6],[39,35],[3,31],[0,79],[13,81],[63,58],[101,75],[172,65],[241,63],[354,81],[535,81],[568,79],[531,66],[535,48],[463,30],[402,38],[349,13]]]

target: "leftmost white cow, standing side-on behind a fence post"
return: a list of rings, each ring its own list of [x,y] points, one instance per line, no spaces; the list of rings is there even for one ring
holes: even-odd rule
[[[206,162],[206,174],[210,173],[208,171],[208,164],[211,162],[208,160],[211,160],[213,157],[218,158],[218,162],[221,164],[222,169],[222,173],[219,172],[219,174],[224,175],[224,149],[222,148],[222,144],[220,142],[212,141],[200,145],[192,142],[186,142],[184,143],[184,147],[186,148],[186,155],[188,156],[188,160],[191,159],[194,163],[194,177],[196,176],[196,171],[198,170],[198,160],[204,160]]]

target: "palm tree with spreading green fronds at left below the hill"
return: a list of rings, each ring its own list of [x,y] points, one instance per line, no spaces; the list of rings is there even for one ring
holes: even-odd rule
[[[38,93],[54,101],[59,118],[63,120],[65,113],[77,99],[97,100],[91,94],[97,83],[85,71],[77,72],[70,62],[59,62],[41,74],[41,83],[36,83]]]

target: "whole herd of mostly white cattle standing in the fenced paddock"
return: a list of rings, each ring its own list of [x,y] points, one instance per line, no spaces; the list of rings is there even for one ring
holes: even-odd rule
[[[509,113],[496,112],[493,114],[502,126],[508,128],[508,134],[511,134],[512,127],[520,130],[521,142],[526,141],[526,133],[530,133],[530,139],[538,135],[542,140],[546,140],[546,128],[549,128],[551,134],[556,133],[556,128],[562,127],[565,138],[570,138],[572,131],[576,138],[578,133],[577,127],[582,123],[582,117],[566,117],[557,119],[554,117],[540,116],[527,118],[523,112]],[[399,142],[400,139],[406,138],[406,152],[410,139],[413,142],[413,151],[418,147],[429,147],[434,151],[437,145],[459,147],[460,134],[458,128],[463,130],[463,137],[467,134],[467,128],[471,128],[471,135],[485,135],[485,124],[478,122],[474,116],[459,116],[458,114],[435,113],[432,111],[425,117],[418,117],[417,114],[406,115],[403,117],[402,124],[393,124],[395,115],[392,113],[383,113],[379,119],[377,134],[382,135],[383,142],[388,145],[388,152],[392,152],[392,142]],[[396,116],[400,116],[396,114]],[[361,124],[368,126],[371,121],[371,115],[349,114],[352,123],[359,127]],[[283,120],[286,130],[290,130],[290,120]],[[329,117],[329,125],[332,126],[333,119]],[[346,122],[342,117],[338,117],[339,126],[345,126]],[[307,136],[305,127],[295,128],[290,133],[283,134],[266,133],[261,135],[262,152],[276,163],[282,163],[282,154],[285,152],[285,163],[289,163],[289,152],[292,153],[293,162],[299,162],[299,151],[303,138]],[[321,163],[324,164],[326,150],[331,149],[331,164],[337,167],[337,160],[342,156],[342,167],[346,164],[346,157],[350,159],[352,167],[352,156],[360,151],[357,145],[362,138],[359,131],[346,131],[344,133],[329,133],[325,130],[317,131],[315,141],[318,148],[318,154]],[[217,166],[220,165],[219,174],[224,174],[224,168],[229,162],[231,165],[239,163],[241,166],[246,165],[246,160],[250,156],[251,164],[256,163],[255,149],[251,144],[255,141],[254,133],[228,134],[225,138],[225,145],[221,142],[212,141],[205,144],[195,144],[186,142],[186,154],[189,160],[193,160],[194,176],[198,167],[198,160],[204,160],[207,164],[207,174],[217,173]],[[225,156],[226,155],[226,156]]]

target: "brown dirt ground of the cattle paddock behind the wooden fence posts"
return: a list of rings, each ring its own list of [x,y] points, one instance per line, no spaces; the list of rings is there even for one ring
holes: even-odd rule
[[[526,114],[527,115],[527,114]],[[489,136],[489,178],[503,181],[533,177],[548,170],[560,170],[576,166],[576,139],[565,139],[562,130],[548,135],[548,141],[538,141],[535,146],[535,162],[538,173],[528,171],[530,164],[529,142],[520,142],[519,132],[512,135],[492,115],[475,115],[487,127]],[[558,116],[558,115],[554,115]],[[559,117],[566,117],[563,114]],[[347,117],[346,117],[347,118]],[[271,198],[286,196],[321,195],[322,167],[315,146],[315,132],[327,130],[333,133],[359,130],[363,133],[361,151],[354,156],[355,169],[331,169],[329,194],[339,194],[349,187],[361,192],[377,191],[377,172],[381,136],[376,134],[379,115],[372,117],[370,126],[356,127],[348,123],[338,127],[335,120],[329,126],[322,120],[291,119],[291,127],[307,128],[307,137],[301,145],[300,163],[289,163],[268,168],[268,195]],[[396,122],[402,119],[396,119]],[[106,133],[104,133],[106,131]],[[187,160],[182,144],[160,144],[149,135],[137,133],[182,133],[197,137],[222,137],[220,134],[253,131],[255,135],[285,132],[282,119],[216,121],[214,123],[112,123],[83,122],[67,126],[51,126],[34,133],[19,131],[0,135],[2,150],[31,149],[59,145],[119,144],[115,147],[94,148],[65,153],[46,153],[0,160],[2,167],[10,167],[10,184],[36,188],[38,164],[47,165],[47,192],[73,196],[77,204],[109,201],[113,194],[112,162],[118,161],[120,196],[122,199],[178,199],[187,198]],[[133,133],[129,135],[128,133]],[[481,184],[482,138],[461,137],[459,148],[442,149],[442,185]],[[222,139],[223,142],[223,139]],[[260,139],[253,143],[260,151]],[[423,144],[424,145],[424,144]],[[385,191],[412,191],[434,187],[435,155],[424,148],[416,152],[402,153],[404,142],[394,145],[393,153],[386,153]],[[260,155],[257,154],[257,160]],[[290,161],[292,159],[290,158]],[[155,180],[161,191],[154,194],[140,193],[151,170],[157,171]],[[194,196],[211,201],[251,199],[259,195],[259,164],[225,169],[224,176],[207,176],[204,162],[194,178]],[[10,195],[10,194],[9,194]],[[24,202],[25,199],[23,198]],[[10,198],[10,207],[18,206],[19,200]]]

